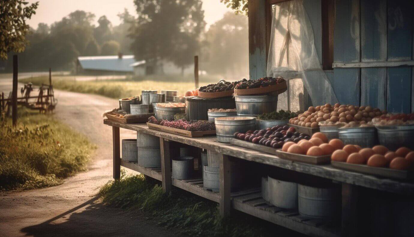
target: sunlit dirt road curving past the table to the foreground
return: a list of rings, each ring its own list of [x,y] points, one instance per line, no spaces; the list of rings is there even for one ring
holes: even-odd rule
[[[19,85],[19,88],[21,85]],[[0,78],[0,91],[10,91],[11,80]],[[89,171],[45,189],[0,194],[0,235],[173,236],[140,213],[128,213],[94,203],[98,188],[112,179],[112,129],[103,125],[102,113],[118,101],[97,95],[55,90],[59,103],[55,117],[84,133],[98,149]],[[136,133],[121,129],[121,139]]]

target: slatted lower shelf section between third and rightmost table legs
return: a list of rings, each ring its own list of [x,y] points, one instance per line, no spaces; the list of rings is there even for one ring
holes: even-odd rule
[[[272,206],[262,198],[260,189],[257,190],[256,193],[246,192],[244,195],[241,194],[237,197],[232,195],[232,208],[305,235],[325,237],[340,236],[339,224],[334,225],[324,220],[308,218],[300,215],[297,210],[288,210]]]

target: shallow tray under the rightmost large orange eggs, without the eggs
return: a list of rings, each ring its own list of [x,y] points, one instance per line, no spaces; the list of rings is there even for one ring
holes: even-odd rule
[[[349,164],[347,162],[332,161],[332,166],[338,169],[345,169],[363,174],[372,174],[375,176],[394,178],[394,179],[412,179],[413,172],[408,170],[397,170],[390,168],[371,167],[366,164]]]

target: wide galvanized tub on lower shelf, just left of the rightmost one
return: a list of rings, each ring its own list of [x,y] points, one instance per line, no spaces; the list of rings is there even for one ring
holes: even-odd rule
[[[279,208],[298,207],[298,184],[267,177],[269,182],[269,202]]]

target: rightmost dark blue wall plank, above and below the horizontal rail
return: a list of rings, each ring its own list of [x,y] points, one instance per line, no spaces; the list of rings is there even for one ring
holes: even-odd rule
[[[412,1],[388,0],[388,60],[412,58]],[[388,68],[387,110],[411,111],[412,67]]]

